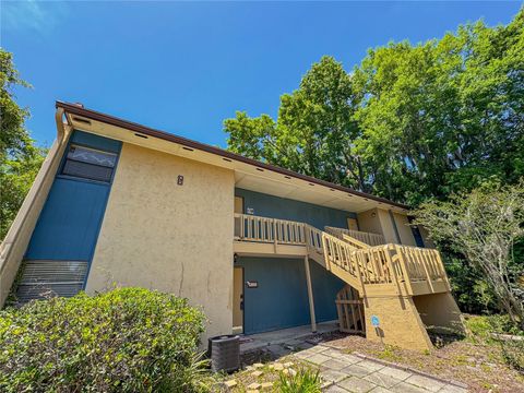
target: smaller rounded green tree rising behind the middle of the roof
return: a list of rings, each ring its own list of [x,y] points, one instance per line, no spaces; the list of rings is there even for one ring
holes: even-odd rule
[[[362,163],[354,153],[359,129],[352,79],[332,57],[314,63],[298,90],[281,97],[278,119],[249,118],[238,111],[224,121],[229,133],[228,148],[314,176],[320,179],[368,190]]]

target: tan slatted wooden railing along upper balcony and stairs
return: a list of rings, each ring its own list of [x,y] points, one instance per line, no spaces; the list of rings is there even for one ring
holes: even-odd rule
[[[448,276],[439,251],[401,245],[369,247],[348,234],[350,230],[326,227],[331,234],[308,224],[287,219],[235,214],[235,239],[287,246],[306,246],[323,254],[325,267],[336,265],[350,275],[358,290],[365,285],[394,284],[398,290],[415,295],[417,284],[426,283],[430,293],[434,283],[449,290]],[[366,233],[360,233],[366,234]],[[368,241],[382,241],[380,235],[368,234]],[[362,239],[362,237],[361,237]],[[373,239],[373,240],[371,240]],[[401,289],[401,285],[405,289]]]

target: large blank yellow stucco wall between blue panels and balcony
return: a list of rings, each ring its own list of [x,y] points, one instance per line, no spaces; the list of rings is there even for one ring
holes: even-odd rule
[[[124,143],[86,291],[172,293],[203,307],[207,336],[230,333],[234,189],[231,170]]]

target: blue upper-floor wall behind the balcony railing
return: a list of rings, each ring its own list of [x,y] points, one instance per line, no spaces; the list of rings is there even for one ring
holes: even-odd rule
[[[245,213],[249,207],[258,216],[307,223],[319,229],[324,226],[347,228],[347,218],[357,217],[350,212],[238,188],[235,189],[235,195],[243,198]]]

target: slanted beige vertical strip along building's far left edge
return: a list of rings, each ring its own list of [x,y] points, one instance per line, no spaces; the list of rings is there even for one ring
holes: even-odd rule
[[[0,245],[0,307],[3,307],[3,303],[9,295],[11,286],[13,284],[16,272],[20,269],[20,263],[27,248],[31,235],[36,225],[36,221],[40,214],[40,211],[44,206],[44,200],[38,196],[44,192],[45,187],[50,184],[48,181],[49,176],[52,169],[57,167],[57,160],[60,159],[61,147],[68,140],[69,133],[66,130],[63,124],[63,108],[57,108],[55,114],[55,120],[57,123],[57,139],[52,143],[47,157],[44,159],[38,174],[31,187],[27,195],[20,207],[16,217],[14,218],[11,227],[9,228],[5,238]],[[40,206],[37,206],[37,202],[40,202]],[[31,219],[29,219],[31,218]],[[25,231],[25,234],[23,234]],[[8,267],[12,267],[11,271]]]

